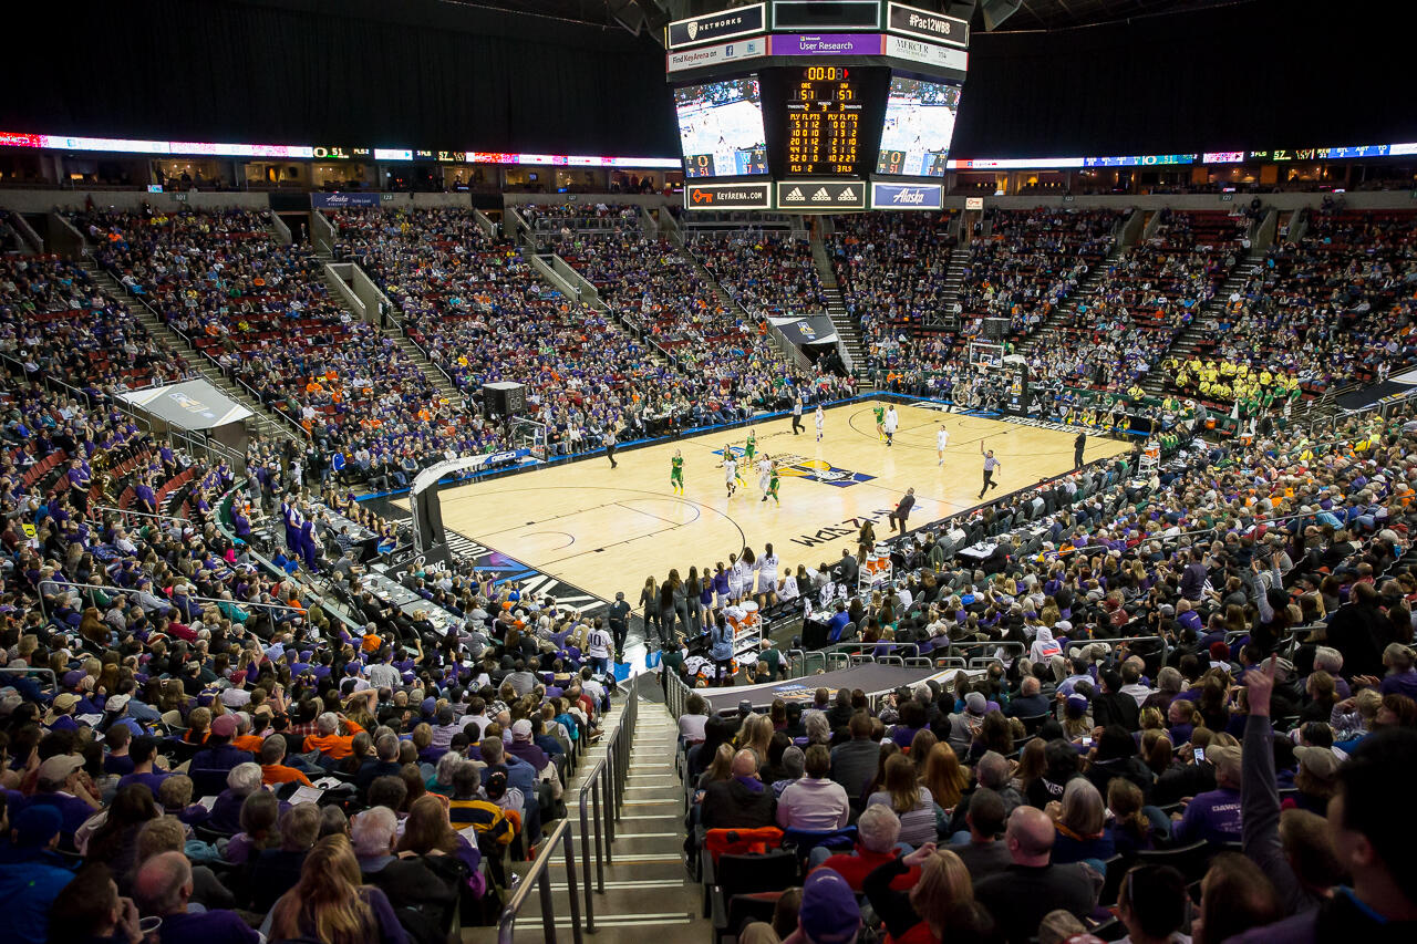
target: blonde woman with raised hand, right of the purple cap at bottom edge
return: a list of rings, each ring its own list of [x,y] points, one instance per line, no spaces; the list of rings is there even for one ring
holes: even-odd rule
[[[910,892],[891,889],[891,882],[911,869],[920,869],[920,879]],[[862,892],[886,923],[887,941],[897,944],[938,943],[949,928],[971,927],[976,920],[969,869],[958,855],[937,849],[934,842],[874,869],[862,883]]]

